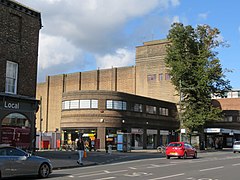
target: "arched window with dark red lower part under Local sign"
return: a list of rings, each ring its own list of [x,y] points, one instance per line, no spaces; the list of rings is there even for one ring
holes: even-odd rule
[[[20,113],[11,113],[2,120],[2,143],[22,149],[29,148],[31,124]]]

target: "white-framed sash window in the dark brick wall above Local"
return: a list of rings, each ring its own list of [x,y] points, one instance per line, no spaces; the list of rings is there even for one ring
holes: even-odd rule
[[[17,94],[17,74],[18,74],[18,64],[7,61],[6,67],[6,93]]]

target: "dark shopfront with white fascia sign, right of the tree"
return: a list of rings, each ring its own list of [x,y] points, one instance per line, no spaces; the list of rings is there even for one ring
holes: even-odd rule
[[[205,147],[206,148],[231,148],[233,142],[240,140],[240,130],[225,128],[206,128]]]

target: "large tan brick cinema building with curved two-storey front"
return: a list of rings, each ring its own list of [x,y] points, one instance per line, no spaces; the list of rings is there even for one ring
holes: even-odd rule
[[[130,133],[135,149],[176,140],[179,98],[164,64],[166,43],[137,47],[135,66],[48,76],[37,86],[42,130],[60,132],[62,144],[81,133],[99,139],[99,148],[115,145],[118,132]]]

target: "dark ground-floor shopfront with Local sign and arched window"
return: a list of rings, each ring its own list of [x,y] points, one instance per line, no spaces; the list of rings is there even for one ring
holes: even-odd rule
[[[38,104],[34,98],[0,94],[0,144],[35,150]]]

